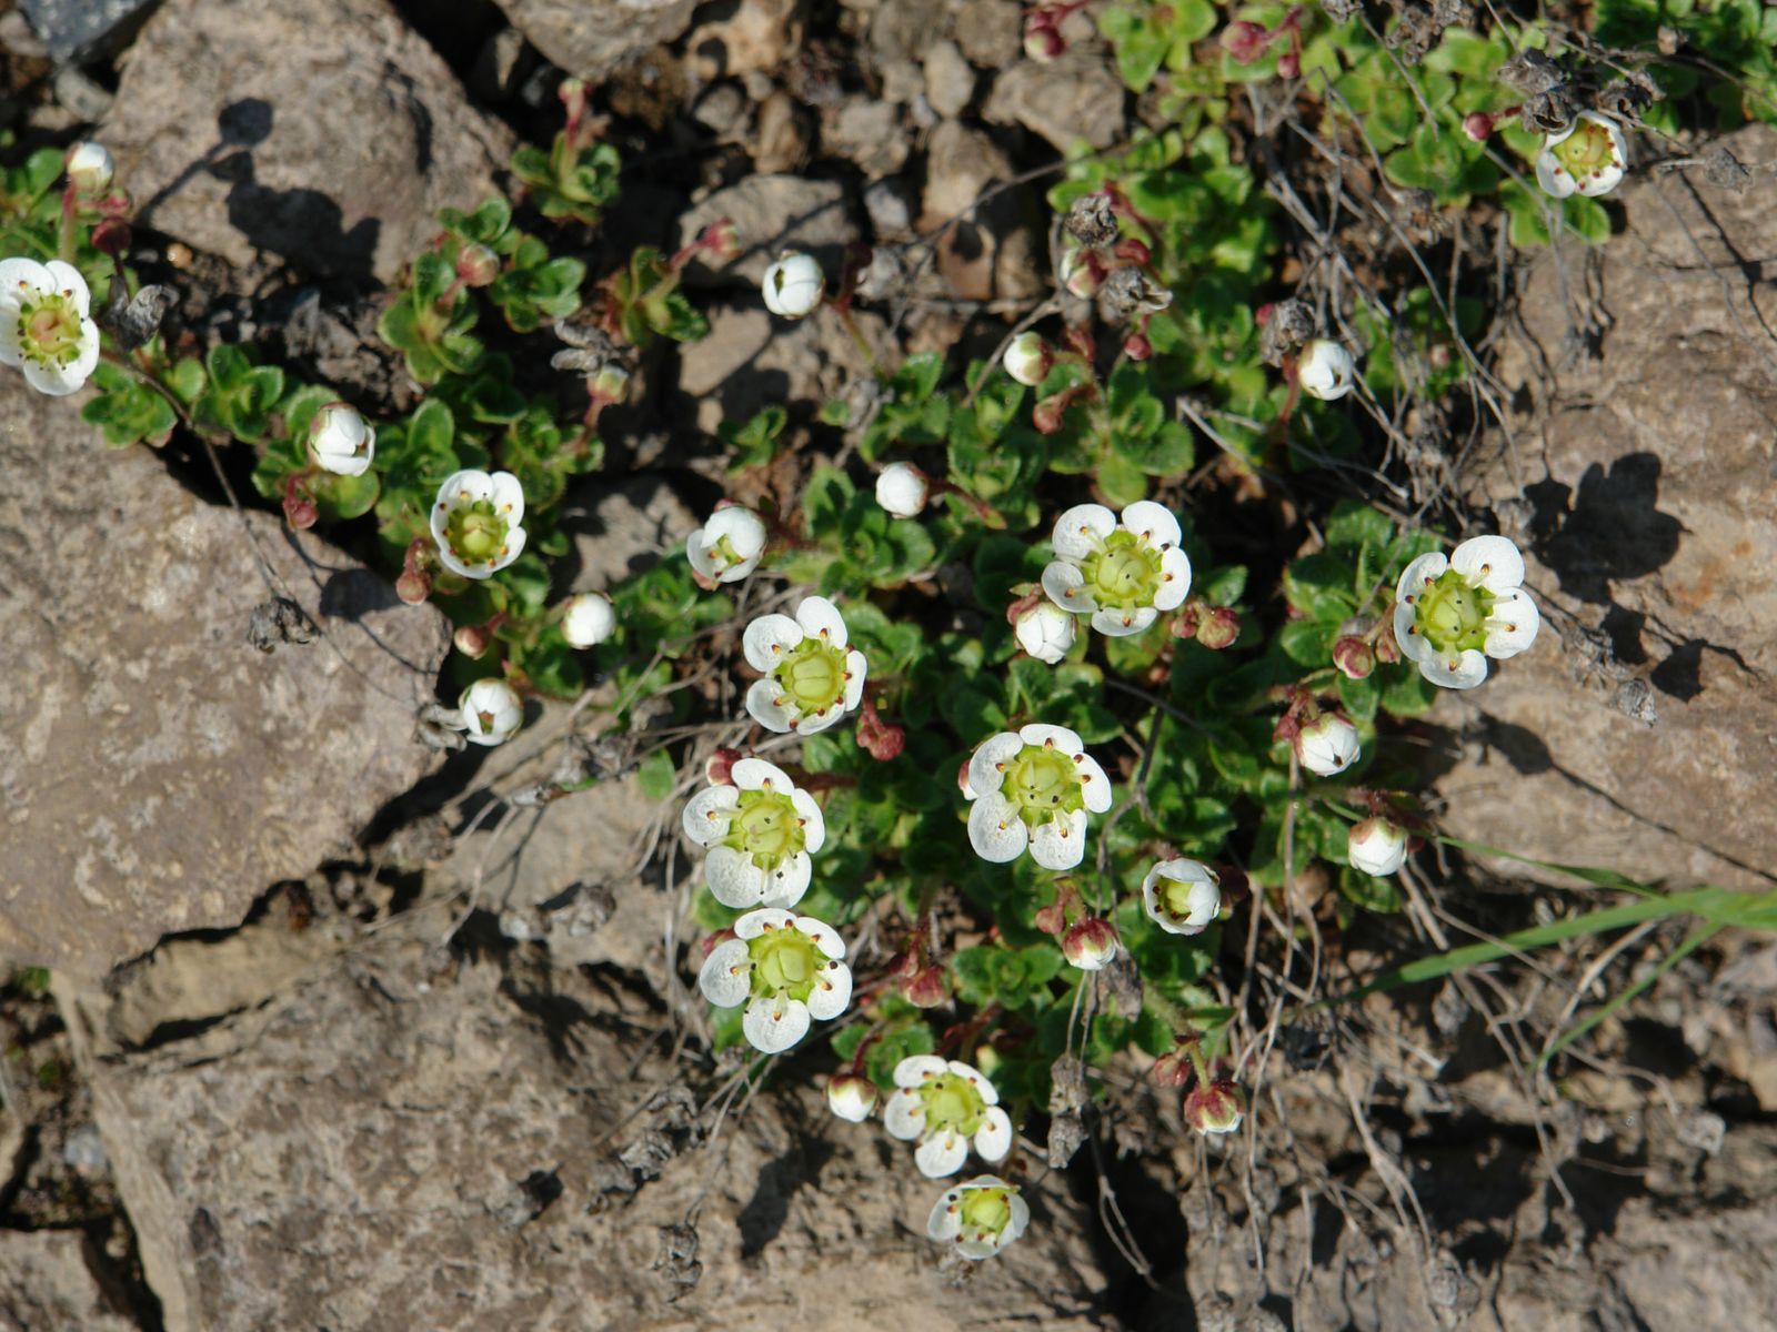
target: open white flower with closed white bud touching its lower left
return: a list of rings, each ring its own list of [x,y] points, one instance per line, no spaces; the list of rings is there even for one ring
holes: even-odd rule
[[[1075,504],[1056,519],[1043,591],[1063,611],[1089,614],[1100,634],[1139,634],[1191,593],[1178,538],[1178,519],[1151,499],[1123,510],[1121,522],[1104,504]]]

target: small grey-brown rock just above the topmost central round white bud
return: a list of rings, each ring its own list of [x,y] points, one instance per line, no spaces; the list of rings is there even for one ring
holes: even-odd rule
[[[741,256],[716,272],[695,259],[686,268],[688,286],[745,286],[757,293],[766,268],[782,250],[812,254],[832,284],[839,281],[846,247],[858,240],[858,227],[846,208],[846,190],[837,181],[748,176],[739,185],[698,201],[679,220],[679,243],[689,245],[704,227],[723,217],[739,233]]]

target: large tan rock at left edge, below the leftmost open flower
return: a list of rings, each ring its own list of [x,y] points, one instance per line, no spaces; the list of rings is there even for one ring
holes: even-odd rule
[[[412,714],[448,636],[327,542],[107,451],[12,371],[0,419],[0,641],[28,682],[0,700],[0,957],[91,975],[236,924],[426,773]],[[254,551],[325,643],[247,645]]]

